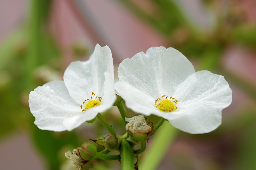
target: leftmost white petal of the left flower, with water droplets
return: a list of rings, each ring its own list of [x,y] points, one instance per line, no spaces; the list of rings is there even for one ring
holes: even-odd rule
[[[38,86],[30,92],[28,102],[30,111],[36,118],[34,123],[39,129],[67,130],[63,121],[83,114],[80,105],[70,97],[63,81],[51,81]]]

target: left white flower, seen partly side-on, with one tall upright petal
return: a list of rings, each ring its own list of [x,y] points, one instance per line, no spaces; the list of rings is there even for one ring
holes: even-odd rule
[[[116,100],[108,46],[97,44],[88,61],[70,63],[63,80],[38,86],[29,94],[30,111],[39,129],[70,131],[106,111]]]

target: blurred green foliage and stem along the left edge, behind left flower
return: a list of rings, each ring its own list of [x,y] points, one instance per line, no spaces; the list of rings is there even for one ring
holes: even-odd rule
[[[82,141],[74,131],[56,133],[38,129],[28,107],[29,92],[42,85],[35,77],[35,69],[41,65],[50,65],[60,70],[60,67],[56,67],[59,64],[55,63],[59,60],[55,59],[60,57],[60,50],[52,35],[44,28],[50,4],[50,0],[31,1],[27,25],[18,28],[1,44],[0,74],[5,78],[0,83],[0,112],[3,113],[0,137],[14,130],[28,129],[35,146],[47,160],[49,169],[56,170],[63,161],[59,157],[61,149],[69,146],[69,150],[72,150]],[[61,155],[65,155],[65,152]]]

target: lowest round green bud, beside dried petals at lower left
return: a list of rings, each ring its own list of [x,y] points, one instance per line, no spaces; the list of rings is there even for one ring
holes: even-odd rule
[[[97,146],[92,142],[84,142],[78,151],[81,158],[84,160],[91,160],[97,152]]]

